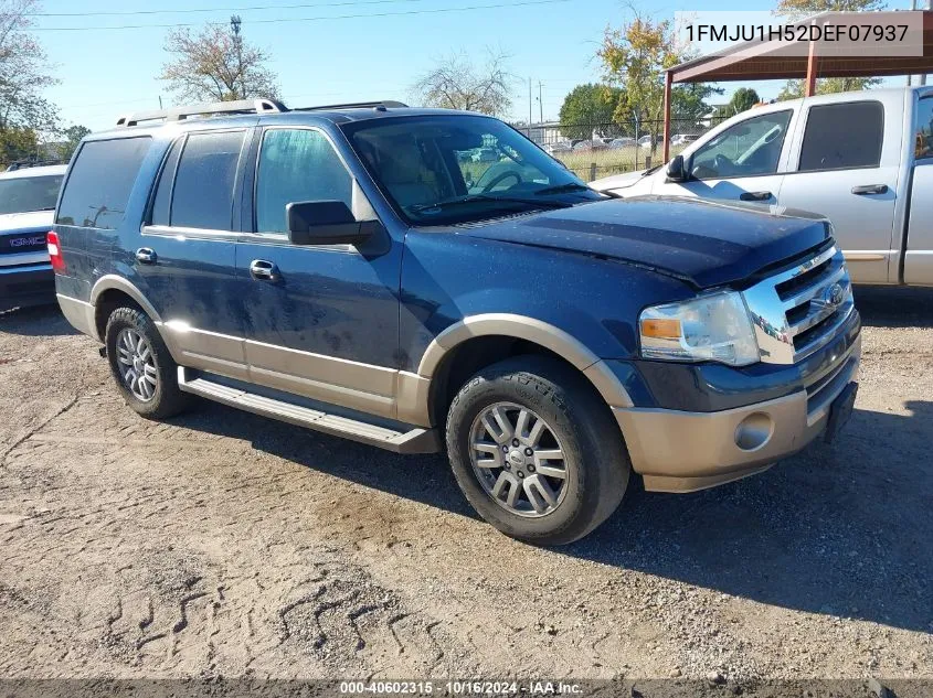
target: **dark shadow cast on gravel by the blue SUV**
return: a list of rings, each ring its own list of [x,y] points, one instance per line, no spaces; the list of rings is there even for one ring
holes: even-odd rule
[[[933,402],[856,410],[831,445],[687,495],[633,486],[563,555],[814,613],[933,631]],[[475,517],[442,455],[402,457],[220,406],[179,419],[348,481]]]

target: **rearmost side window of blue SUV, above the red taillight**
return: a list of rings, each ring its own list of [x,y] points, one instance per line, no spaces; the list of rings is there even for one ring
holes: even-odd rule
[[[104,230],[119,227],[151,140],[144,136],[84,143],[65,183],[55,223]]]

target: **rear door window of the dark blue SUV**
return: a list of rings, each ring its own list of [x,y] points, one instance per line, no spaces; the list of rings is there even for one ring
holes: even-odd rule
[[[170,225],[210,230],[231,229],[233,183],[236,180],[243,138],[244,131],[191,133],[188,137],[174,176]],[[166,182],[167,179],[162,176],[160,190],[170,184]],[[160,192],[157,192],[157,205],[159,196]]]

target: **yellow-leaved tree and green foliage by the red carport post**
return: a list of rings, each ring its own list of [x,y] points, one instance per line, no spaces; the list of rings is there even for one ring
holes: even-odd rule
[[[639,132],[654,144],[664,129],[665,72],[689,56],[677,45],[671,23],[654,22],[637,13],[621,29],[607,29],[596,52],[606,82],[622,89],[615,118],[638,121]],[[722,90],[709,85],[681,85],[671,90],[671,118],[691,126],[709,111],[706,99]]]

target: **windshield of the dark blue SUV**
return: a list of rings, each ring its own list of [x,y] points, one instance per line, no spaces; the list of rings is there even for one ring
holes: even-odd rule
[[[498,119],[437,115],[344,126],[399,214],[448,225],[605,198]]]

